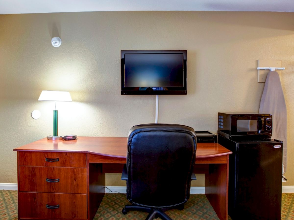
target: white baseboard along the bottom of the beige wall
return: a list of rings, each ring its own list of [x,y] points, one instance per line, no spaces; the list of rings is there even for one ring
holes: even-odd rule
[[[114,193],[126,193],[125,186],[106,186],[108,189],[113,191]],[[0,183],[0,190],[17,190],[17,183]],[[110,192],[108,189],[105,188],[106,193],[113,193]],[[116,192],[115,192],[116,191]],[[205,187],[191,187],[191,194],[204,194]],[[294,193],[294,186],[282,186],[282,193]]]

